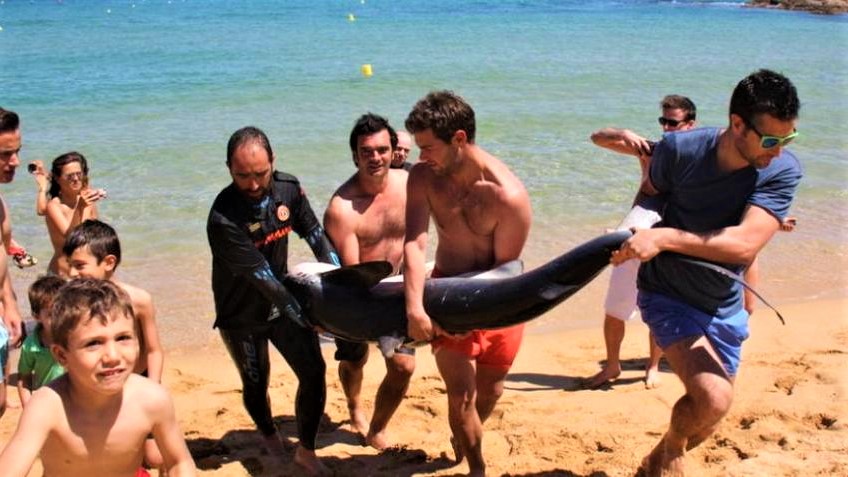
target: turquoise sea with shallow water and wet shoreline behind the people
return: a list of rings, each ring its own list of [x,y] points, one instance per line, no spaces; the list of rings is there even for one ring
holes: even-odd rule
[[[629,208],[636,161],[593,146],[593,130],[657,137],[668,93],[690,96],[702,124],[723,125],[739,79],[781,71],[803,103],[792,149],[806,176],[799,228],[763,253],[760,288],[776,303],[848,291],[846,16],[684,0],[5,0],[0,28],[0,105],[23,118],[23,160],[89,159],[93,185],[109,192],[101,214],[121,235],[120,276],[153,293],[166,343],[214,339],[205,221],[228,182],[232,131],[265,129],[321,214],[352,173],[356,117],[400,126],[441,88],[469,100],[478,143],[528,186],[532,267]],[[34,192],[24,168],[2,187],[15,237],[46,265]],[[309,258],[302,243],[293,253]],[[36,272],[12,274],[23,297]],[[602,282],[552,326],[598,323]]]

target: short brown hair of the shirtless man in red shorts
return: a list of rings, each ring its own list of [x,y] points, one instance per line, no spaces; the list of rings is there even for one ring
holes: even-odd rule
[[[433,135],[447,143],[459,130],[465,131],[468,142],[473,143],[477,129],[471,106],[458,94],[447,90],[431,91],[415,103],[405,126],[412,134],[430,129]]]

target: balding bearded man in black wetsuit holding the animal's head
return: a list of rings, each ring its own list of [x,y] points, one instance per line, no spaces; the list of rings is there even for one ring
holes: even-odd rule
[[[283,355],[298,379],[295,463],[311,475],[325,475],[315,455],[326,399],[324,359],[315,331],[305,325],[300,305],[281,280],[292,231],[306,239],[318,260],[338,265],[338,256],[297,178],[274,170],[265,133],[254,127],[233,133],[227,167],[233,182],[218,194],[207,223],[215,327],[239,368],[245,408],[274,453],[283,447],[268,397],[268,342]]]

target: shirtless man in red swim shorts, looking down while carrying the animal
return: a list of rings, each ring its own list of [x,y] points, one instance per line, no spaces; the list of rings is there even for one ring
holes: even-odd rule
[[[468,457],[469,475],[483,476],[483,423],[503,394],[523,325],[446,336],[423,304],[427,230],[432,216],[439,239],[434,277],[488,270],[521,254],[530,231],[530,199],[518,177],[475,143],[474,111],[456,94],[431,92],[413,107],[405,125],[421,154],[407,185],[408,334],[432,342],[447,390],[457,461]]]

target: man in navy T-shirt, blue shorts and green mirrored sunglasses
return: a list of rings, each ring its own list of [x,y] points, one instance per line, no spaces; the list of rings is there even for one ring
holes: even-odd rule
[[[741,284],[682,256],[740,273],[786,218],[801,179],[783,146],[797,136],[800,102],[785,76],[759,70],[737,84],[726,129],[669,134],[656,144],[645,193],[662,222],[638,230],[612,263],[639,268],[642,319],[686,393],[668,431],[642,462],[645,475],[683,475],[685,452],[717,429],[733,399],[748,312]]]

